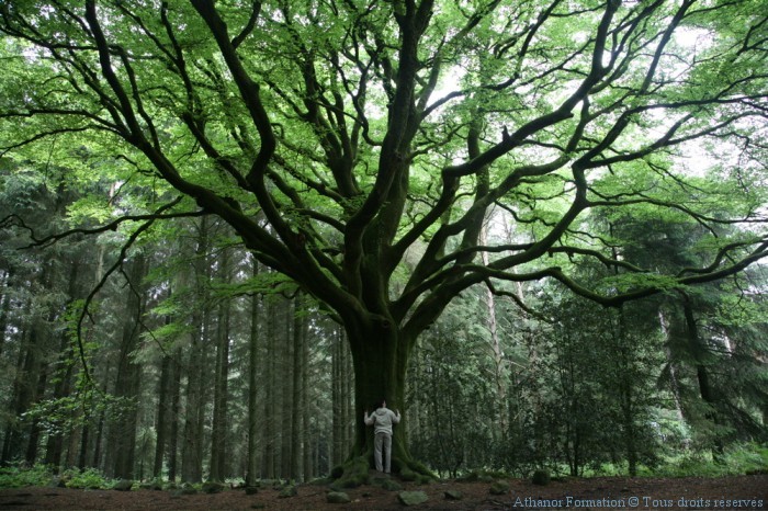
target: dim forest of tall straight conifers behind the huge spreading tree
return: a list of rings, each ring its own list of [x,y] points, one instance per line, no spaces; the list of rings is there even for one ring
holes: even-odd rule
[[[64,232],[99,195],[129,209],[118,188],[94,182],[86,195],[53,166],[5,164],[2,216],[37,237]],[[508,236],[497,220],[486,230]],[[685,223],[614,225],[656,264],[680,264],[666,252],[697,242]],[[346,459],[357,418],[342,329],[221,222],[168,223],[128,253],[121,228],[45,248],[29,234],[2,230],[3,464],[308,480]],[[394,406],[415,455],[442,476],[685,472],[766,441],[767,277],[758,265],[619,309],[546,284],[473,287],[420,338],[407,402]]]

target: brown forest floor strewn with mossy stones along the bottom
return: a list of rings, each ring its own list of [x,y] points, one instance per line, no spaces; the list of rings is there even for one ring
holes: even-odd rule
[[[394,478],[394,477],[393,477]],[[662,510],[662,509],[768,509],[768,475],[720,478],[629,478],[597,477],[554,480],[534,486],[529,480],[509,479],[509,490],[492,495],[488,482],[443,480],[429,485],[397,481],[404,490],[423,491],[429,500],[416,510],[532,511],[572,510]],[[0,510],[403,510],[399,491],[379,485],[345,490],[350,503],[329,503],[328,488],[301,485],[294,497],[281,498],[276,489],[246,495],[242,489],[219,493],[180,495],[173,490],[82,490],[26,487],[0,489]],[[461,492],[449,500],[445,491]]]

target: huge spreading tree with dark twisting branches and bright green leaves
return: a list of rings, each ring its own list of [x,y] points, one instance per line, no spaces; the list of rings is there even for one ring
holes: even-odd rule
[[[761,3],[4,1],[0,147],[144,197],[88,231],[228,223],[343,325],[362,419],[403,407],[419,333],[472,285],[618,306],[768,254]],[[694,223],[707,262],[641,266],[595,209]],[[492,215],[513,236],[481,236]],[[585,260],[614,276],[569,276]]]

